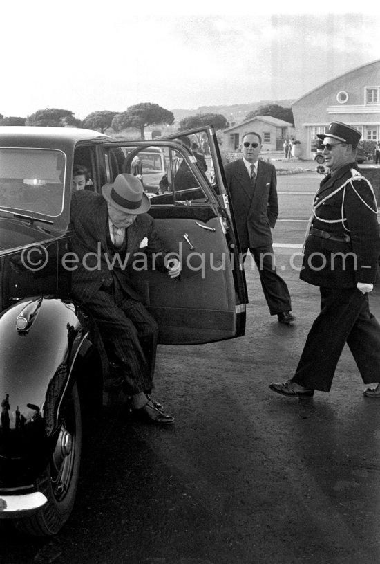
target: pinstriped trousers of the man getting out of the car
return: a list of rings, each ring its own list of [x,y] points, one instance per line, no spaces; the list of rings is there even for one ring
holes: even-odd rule
[[[153,388],[158,325],[144,305],[122,289],[100,289],[84,304],[99,327],[106,350],[120,363],[128,394]]]

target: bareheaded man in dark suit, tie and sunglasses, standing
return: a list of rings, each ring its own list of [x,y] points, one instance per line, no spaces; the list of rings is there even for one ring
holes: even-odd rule
[[[292,315],[289,290],[274,264],[272,231],[278,216],[276,169],[258,160],[261,137],[254,132],[242,139],[243,158],[225,165],[243,257],[249,249],[260,273],[261,286],[271,316],[289,325]]]

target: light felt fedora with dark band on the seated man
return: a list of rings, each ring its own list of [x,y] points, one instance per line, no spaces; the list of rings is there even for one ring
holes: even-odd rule
[[[133,174],[117,174],[115,181],[104,184],[102,194],[106,201],[122,212],[140,214],[151,207],[142,183]]]

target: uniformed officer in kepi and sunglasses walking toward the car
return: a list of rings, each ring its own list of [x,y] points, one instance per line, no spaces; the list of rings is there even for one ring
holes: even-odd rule
[[[329,392],[347,343],[363,382],[376,383],[364,395],[380,398],[380,325],[368,304],[377,280],[379,224],[374,191],[355,162],[361,134],[332,122],[318,137],[330,173],[314,198],[300,278],[319,286],[321,312],[293,378],[269,388],[289,397]]]

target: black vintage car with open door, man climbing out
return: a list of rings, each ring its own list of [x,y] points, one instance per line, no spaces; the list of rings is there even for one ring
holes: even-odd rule
[[[50,535],[64,525],[79,476],[80,392],[91,378],[109,401],[110,359],[70,294],[74,165],[89,171],[85,190],[100,192],[140,152],[159,149],[164,188],[150,193],[149,213],[178,249],[181,280],[140,271],[135,282],[160,343],[244,334],[247,293],[216,135],[211,126],[187,134],[207,137],[211,176],[171,138],[126,143],[86,129],[0,127],[0,518],[22,531]]]

